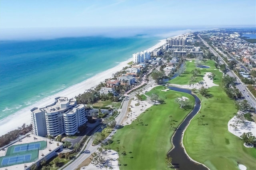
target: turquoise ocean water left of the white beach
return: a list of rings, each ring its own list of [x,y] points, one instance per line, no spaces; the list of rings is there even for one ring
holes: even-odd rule
[[[158,40],[94,36],[1,41],[0,119],[112,68]]]

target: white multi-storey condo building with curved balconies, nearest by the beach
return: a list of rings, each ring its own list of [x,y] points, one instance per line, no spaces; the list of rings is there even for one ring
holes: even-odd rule
[[[88,121],[84,105],[76,105],[74,98],[56,97],[53,104],[30,111],[33,133],[38,136],[74,135]]]

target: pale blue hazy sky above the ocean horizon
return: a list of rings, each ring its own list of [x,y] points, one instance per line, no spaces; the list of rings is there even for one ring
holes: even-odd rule
[[[0,31],[255,26],[255,0],[0,0]],[[0,34],[1,36],[1,34]]]

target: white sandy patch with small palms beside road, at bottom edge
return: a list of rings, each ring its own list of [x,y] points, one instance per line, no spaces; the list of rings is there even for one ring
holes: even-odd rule
[[[114,170],[119,170],[119,166],[118,166],[118,153],[114,150],[108,150],[105,152],[106,155],[102,156],[102,158],[104,158],[106,160],[106,164],[108,165],[108,168],[100,167],[100,166],[96,166],[94,164],[92,164],[92,162],[88,165],[88,166],[83,166],[82,168],[80,168],[80,170],[96,170],[96,169],[106,169],[106,170],[110,170],[110,167],[112,167],[112,169]],[[111,161],[110,158],[112,158],[113,160]]]

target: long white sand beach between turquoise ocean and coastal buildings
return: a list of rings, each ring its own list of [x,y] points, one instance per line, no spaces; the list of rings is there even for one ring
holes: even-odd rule
[[[159,40],[156,45],[149,47],[148,49],[146,49],[146,51],[153,51],[154,49],[164,45],[165,43],[166,43],[166,39]],[[0,120],[0,136],[10,132],[11,130],[15,130],[18,127],[21,127],[24,123],[26,123],[26,125],[30,125],[31,123],[30,110],[32,108],[34,107],[42,108],[42,107],[45,107],[46,105],[50,105],[54,103],[54,98],[59,96],[68,97],[70,99],[79,94],[82,94],[87,89],[95,87],[105,79],[112,77],[113,73],[116,73],[117,71],[122,70],[123,67],[128,66],[128,63],[130,61],[132,61],[132,58],[126,61],[122,61],[115,67],[102,71],[101,73],[98,73],[93,77],[90,77],[80,83],[72,85],[64,89],[63,91],[60,91],[54,95],[45,97],[44,99],[36,103],[33,103],[32,105],[27,106],[24,109],[21,109],[20,111],[17,111],[16,113]]]

